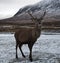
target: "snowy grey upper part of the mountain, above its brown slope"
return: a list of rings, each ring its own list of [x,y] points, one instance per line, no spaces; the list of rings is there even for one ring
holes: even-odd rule
[[[58,18],[60,19],[60,0],[42,0],[41,2],[36,3],[35,5],[26,6],[19,9],[19,11],[14,15],[17,17],[26,16],[26,11],[30,10],[33,14],[40,14],[40,10],[46,10],[46,17]]]

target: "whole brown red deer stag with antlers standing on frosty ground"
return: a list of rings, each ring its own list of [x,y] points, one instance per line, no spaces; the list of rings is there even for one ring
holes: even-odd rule
[[[30,59],[30,61],[32,61],[32,47],[33,47],[34,43],[36,42],[37,38],[41,34],[41,21],[43,20],[45,14],[46,14],[46,11],[39,19],[33,17],[32,13],[30,13],[30,12],[28,12],[28,14],[31,16],[32,21],[34,21],[35,26],[34,27],[23,27],[15,32],[16,58],[18,58],[18,55],[17,55],[17,48],[18,47],[22,53],[22,56],[25,57],[21,47],[23,44],[28,44],[28,47],[30,50],[29,59]]]

